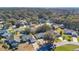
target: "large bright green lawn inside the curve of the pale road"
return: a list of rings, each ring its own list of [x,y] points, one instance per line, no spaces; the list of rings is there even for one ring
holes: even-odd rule
[[[77,45],[63,45],[56,47],[55,51],[73,51],[74,49],[79,48]]]

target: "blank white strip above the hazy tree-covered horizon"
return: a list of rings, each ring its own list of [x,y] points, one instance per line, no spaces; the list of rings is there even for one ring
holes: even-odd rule
[[[0,7],[79,7],[79,0],[0,0]]]

